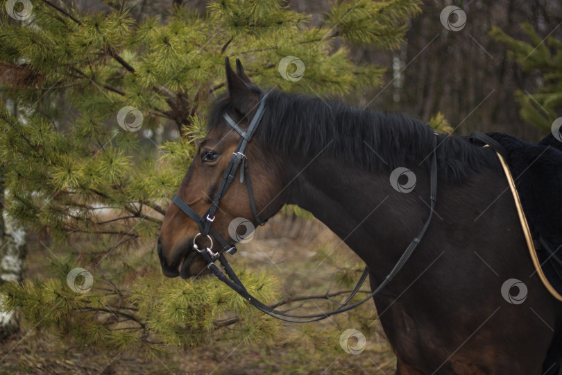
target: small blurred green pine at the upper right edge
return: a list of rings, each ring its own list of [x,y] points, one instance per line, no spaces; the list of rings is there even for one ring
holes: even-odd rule
[[[494,27],[491,35],[506,44],[508,56],[525,72],[540,72],[538,92],[516,91],[520,116],[534,126],[550,130],[554,119],[562,115],[562,41],[550,35],[541,38],[529,23],[522,24],[531,42],[516,40]]]

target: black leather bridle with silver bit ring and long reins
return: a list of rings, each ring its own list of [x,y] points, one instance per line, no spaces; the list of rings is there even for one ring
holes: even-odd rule
[[[406,261],[411,256],[411,253],[414,252],[414,249],[416,249],[416,247],[420,243],[421,239],[423,238],[423,235],[425,234],[425,231],[427,231],[427,227],[429,226],[429,223],[431,222],[434,208],[435,208],[435,202],[437,199],[436,147],[434,147],[432,151],[433,154],[432,167],[430,172],[431,190],[429,195],[431,209],[429,211],[429,217],[427,217],[427,220],[423,225],[421,231],[418,233],[417,237],[414,238],[414,240],[411,240],[410,244],[408,245],[404,253],[402,253],[402,256],[400,256],[400,259],[398,259],[398,262],[394,265],[393,269],[391,269],[391,272],[389,272],[386,278],[384,278],[382,283],[380,283],[380,285],[371,294],[369,294],[368,297],[348,306],[348,303],[351,301],[353,297],[355,297],[355,294],[359,292],[359,288],[361,288],[361,285],[363,285],[365,279],[369,274],[368,267],[365,267],[363,273],[361,274],[361,277],[359,278],[359,281],[357,281],[357,285],[355,285],[355,288],[353,288],[348,298],[346,298],[346,301],[343,301],[343,303],[341,303],[341,305],[338,308],[329,311],[327,313],[321,313],[321,314],[291,315],[283,311],[270,308],[269,306],[255,299],[255,297],[253,297],[252,294],[250,294],[248,290],[246,290],[246,288],[238,278],[237,274],[234,272],[232,267],[230,267],[230,264],[228,263],[228,260],[226,259],[224,254],[224,253],[230,253],[230,254],[236,253],[237,251],[236,246],[230,246],[230,244],[228,244],[228,242],[224,240],[224,238],[222,238],[221,235],[219,235],[219,233],[217,233],[214,230],[214,228],[212,228],[212,223],[214,222],[214,214],[216,212],[216,209],[219,207],[219,203],[222,197],[224,196],[226,190],[228,190],[230,184],[234,180],[238,168],[240,168],[240,183],[243,183],[244,179],[246,179],[246,185],[248,187],[248,194],[250,197],[250,206],[252,207],[252,211],[254,213],[256,222],[259,223],[260,225],[263,225],[266,222],[266,220],[262,221],[261,219],[259,219],[257,209],[255,207],[255,199],[252,192],[252,184],[250,183],[250,178],[248,176],[248,158],[246,158],[246,154],[245,154],[246,147],[248,147],[248,143],[250,142],[250,140],[252,140],[252,136],[255,133],[257,126],[259,125],[259,122],[262,119],[262,116],[264,115],[266,97],[267,94],[261,98],[259,102],[259,106],[254,116],[250,120],[250,124],[248,124],[248,128],[246,128],[246,131],[244,131],[236,122],[234,122],[232,118],[228,115],[228,113],[223,113],[223,118],[225,119],[225,121],[235,131],[237,131],[237,133],[239,133],[241,139],[238,143],[236,150],[232,153],[232,156],[230,157],[230,162],[228,162],[228,165],[223,174],[223,181],[221,182],[221,185],[219,186],[219,189],[217,190],[216,194],[214,194],[214,199],[211,203],[211,206],[207,210],[207,212],[203,215],[203,217],[197,215],[197,213],[193,209],[191,209],[191,207],[189,207],[189,205],[185,203],[185,201],[183,201],[180,197],[178,197],[177,193],[173,196],[172,200],[173,203],[176,203],[176,205],[178,206],[178,208],[180,208],[180,210],[182,210],[187,216],[193,219],[194,222],[196,222],[197,225],[199,226],[200,232],[194,238],[193,247],[198,253],[201,254],[201,256],[203,256],[203,259],[205,260],[205,263],[207,263],[207,268],[210,270],[211,274],[216,276],[216,278],[219,278],[220,281],[228,285],[230,288],[232,288],[232,290],[235,290],[235,292],[237,292],[241,297],[246,299],[246,301],[250,302],[253,306],[261,310],[263,313],[266,313],[267,315],[271,315],[272,317],[275,317],[277,319],[284,320],[285,322],[295,322],[295,323],[316,322],[318,320],[325,319],[332,315],[340,314],[348,310],[351,310],[352,308],[355,308],[361,305],[362,303],[365,303],[369,299],[373,298],[375,294],[380,292],[382,288],[384,288],[394,278],[394,276],[398,274],[402,266],[405,265]],[[434,139],[434,144],[436,145],[436,139]],[[199,249],[198,245],[196,244],[196,239],[200,235],[202,237],[207,237],[207,239],[210,240],[210,247],[206,247],[203,250]],[[219,242],[219,244],[222,247],[222,249],[216,253],[212,251],[213,242],[211,236],[217,242]],[[225,271],[225,274],[221,272],[219,267],[215,264],[216,260],[219,260],[219,263],[221,263]],[[306,320],[295,320],[289,318],[306,319]]]

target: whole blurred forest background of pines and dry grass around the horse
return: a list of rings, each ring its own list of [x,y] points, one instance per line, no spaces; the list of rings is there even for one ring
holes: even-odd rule
[[[393,372],[372,302],[281,324],[214,280],[162,276],[162,214],[224,90],[224,56],[259,85],[400,111],[452,135],[538,142],[562,116],[557,0],[31,3],[31,19],[8,14],[23,2],[0,10],[0,374]],[[449,5],[466,13],[459,31],[440,22]],[[278,73],[286,55],[305,61],[302,81]],[[117,124],[124,106],[141,111],[138,129]],[[248,288],[301,313],[332,308],[363,267],[293,207],[240,249],[232,263]],[[73,272],[87,290],[72,289]],[[348,328],[366,336],[357,356],[339,342]]]

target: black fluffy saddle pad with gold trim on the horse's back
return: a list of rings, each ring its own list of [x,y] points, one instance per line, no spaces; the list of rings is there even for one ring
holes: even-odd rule
[[[562,294],[562,142],[552,134],[538,144],[503,133],[487,135],[506,149],[538,260],[552,287]]]

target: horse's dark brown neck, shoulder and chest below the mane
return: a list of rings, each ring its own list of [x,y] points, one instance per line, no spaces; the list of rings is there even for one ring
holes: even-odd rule
[[[371,270],[374,289],[423,224],[429,176],[412,167],[416,189],[405,194],[386,176],[337,160],[313,163],[293,182],[289,203],[345,239]],[[374,297],[398,374],[541,374],[554,337],[549,326],[559,330],[561,310],[538,276],[529,278],[534,267],[513,198],[501,194],[504,176],[486,171],[461,184],[440,182],[436,212],[442,220],[432,223],[400,277]],[[525,281],[524,303],[502,297],[508,278]]]

